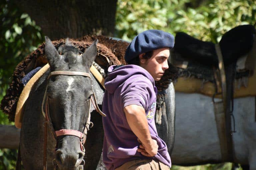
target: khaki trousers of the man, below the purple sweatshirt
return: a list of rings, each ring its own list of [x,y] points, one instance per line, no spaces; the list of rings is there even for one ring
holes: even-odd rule
[[[170,168],[157,160],[137,159],[126,162],[115,170],[170,170]]]

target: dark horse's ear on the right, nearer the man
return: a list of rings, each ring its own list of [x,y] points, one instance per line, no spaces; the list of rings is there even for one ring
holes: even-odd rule
[[[93,61],[97,55],[97,43],[98,39],[95,40],[84,52],[82,58],[84,65],[88,66],[89,68],[92,66]]]

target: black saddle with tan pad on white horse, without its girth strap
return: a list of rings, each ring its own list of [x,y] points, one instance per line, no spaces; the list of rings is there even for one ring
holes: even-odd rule
[[[255,28],[252,25],[235,27],[225,33],[219,43],[224,66],[235,65],[234,98],[256,96],[254,74],[256,63]],[[182,48],[183,47],[183,48]],[[215,44],[177,33],[171,51],[171,63],[179,68],[175,90],[200,93],[221,98],[218,56]]]

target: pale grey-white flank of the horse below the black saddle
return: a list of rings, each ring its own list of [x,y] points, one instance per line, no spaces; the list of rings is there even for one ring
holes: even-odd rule
[[[176,92],[173,164],[218,163],[221,150],[211,97]],[[217,101],[219,99],[215,99]],[[255,97],[234,99],[236,132],[233,133],[234,161],[256,169]],[[232,130],[233,130],[233,121]]]

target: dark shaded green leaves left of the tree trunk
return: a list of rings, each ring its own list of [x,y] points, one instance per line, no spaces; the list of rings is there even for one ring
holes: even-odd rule
[[[14,2],[1,1],[0,9],[0,87],[6,88],[15,66],[43,40],[40,27]]]

